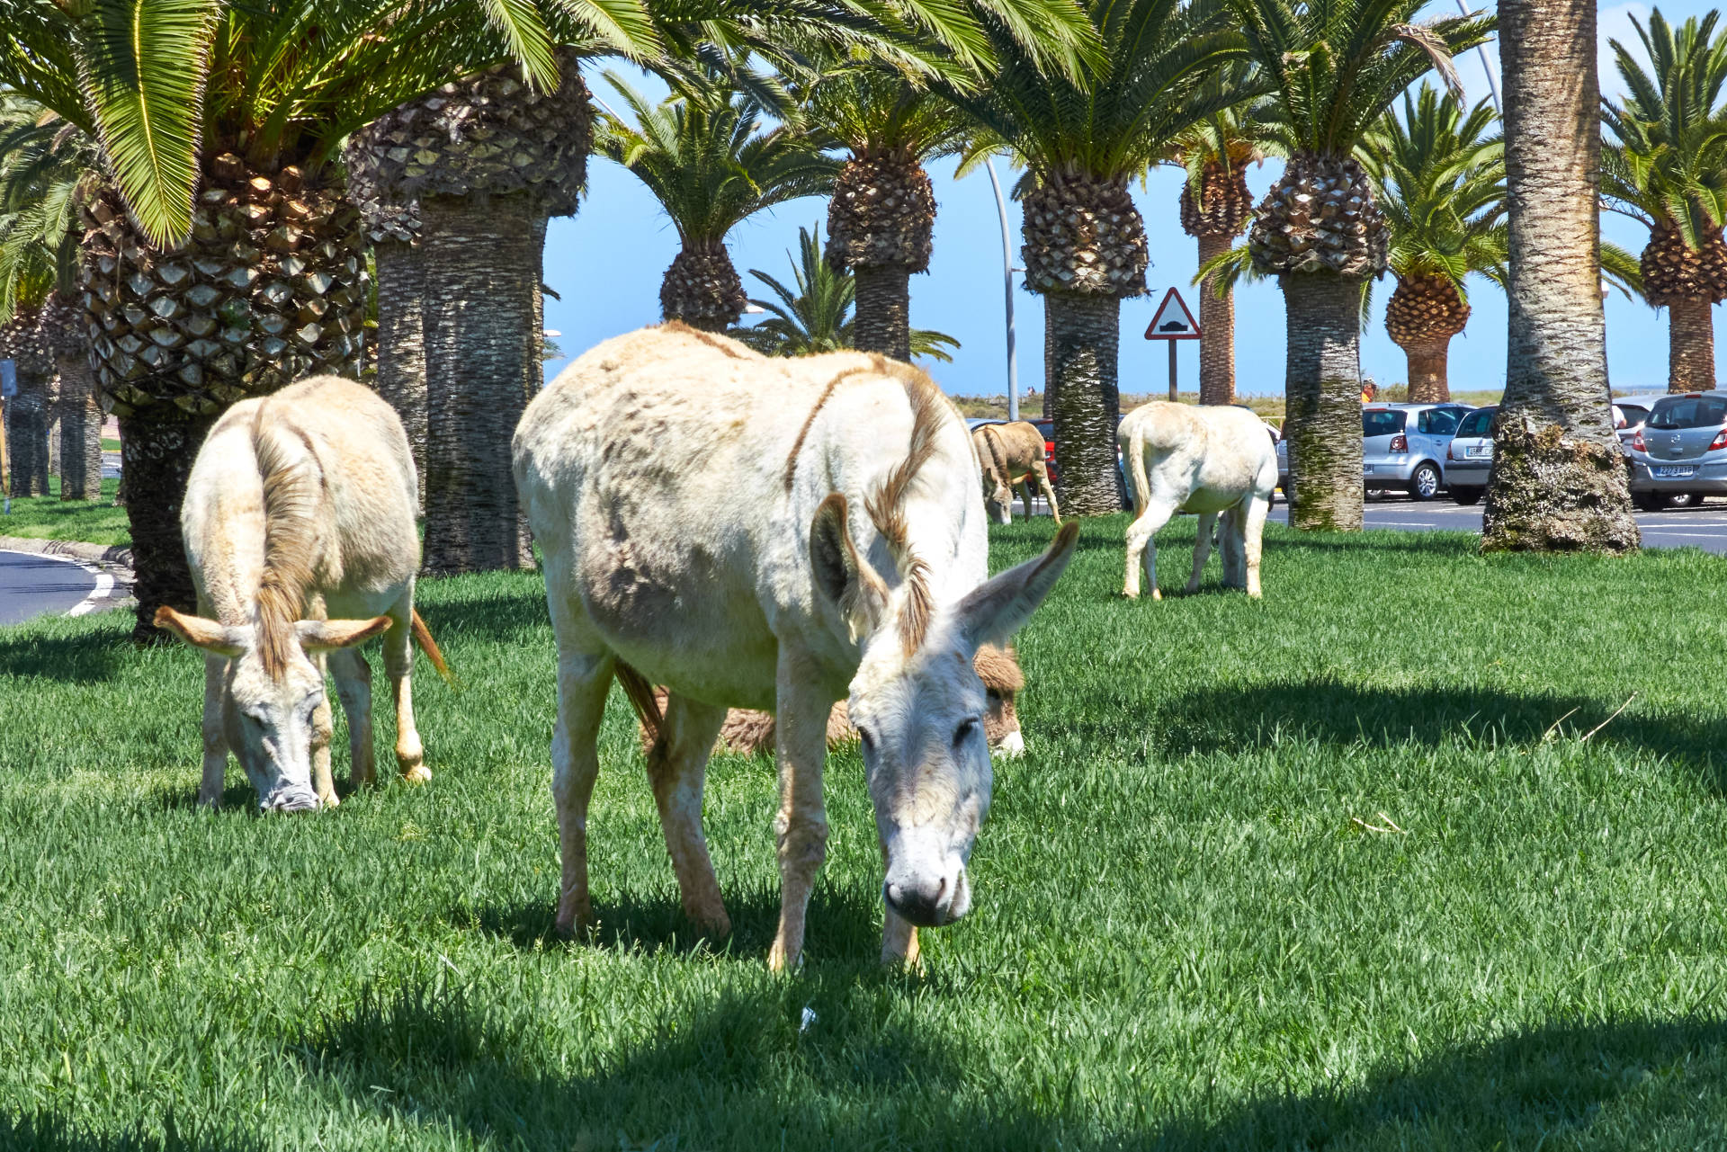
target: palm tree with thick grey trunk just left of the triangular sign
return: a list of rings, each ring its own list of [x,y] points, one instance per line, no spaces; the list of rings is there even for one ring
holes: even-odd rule
[[[1040,69],[998,38],[1000,66],[976,90],[943,86],[1026,166],[1026,287],[1047,311],[1047,404],[1055,416],[1062,508],[1121,510],[1116,420],[1121,301],[1145,292],[1145,225],[1128,183],[1207,116],[1254,95],[1207,88],[1240,54],[1211,5],[1178,0],[1081,3],[1102,55],[1072,76]]]

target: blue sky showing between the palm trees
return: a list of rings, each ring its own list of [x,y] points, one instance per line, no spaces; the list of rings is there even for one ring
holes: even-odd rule
[[[1477,0],[1480,2],[1480,0]],[[1680,21],[1698,16],[1708,5],[1699,2],[1663,5],[1661,12]],[[1454,3],[1433,3],[1428,16],[1454,10]],[[1615,3],[1601,7],[1603,50],[1606,38],[1635,41],[1630,17],[1646,19],[1649,5]],[[1489,60],[1497,69],[1497,55],[1489,47]],[[1480,55],[1470,52],[1458,60],[1468,98],[1487,97],[1487,73]],[[632,76],[632,81],[636,78]],[[648,86],[637,81],[639,86]],[[1615,93],[1618,81],[1610,59],[1601,57],[1601,83]],[[589,76],[589,86],[610,97],[610,86]],[[998,162],[1003,183],[1012,180]],[[1254,195],[1264,195],[1280,166],[1271,161],[1249,171]],[[912,276],[912,323],[936,328],[962,344],[952,364],[931,364],[936,380],[958,396],[998,394],[1007,389],[1002,299],[1002,226],[990,190],[990,178],[977,171],[953,180],[953,164],[936,164],[936,237],[929,273]],[[1181,231],[1176,202],[1181,192],[1178,169],[1157,169],[1135,187],[1135,199],[1145,216],[1152,268],[1147,282],[1150,295],[1126,301],[1121,309],[1121,387],[1124,392],[1154,392],[1167,387],[1167,354],[1143,340],[1157,301],[1169,285],[1180,287],[1190,304],[1195,290],[1188,285],[1197,268],[1193,238]],[[788,278],[788,250],[798,242],[798,226],[826,219],[826,200],[803,199],[782,204],[746,221],[731,237],[732,261],[751,295],[765,295],[765,287],[750,276],[760,268]],[[1019,263],[1019,206],[1009,202],[1014,263]],[[1606,238],[1639,252],[1648,231],[1635,221],[1608,214],[1603,218]],[[589,188],[580,212],[554,219],[546,237],[546,282],[561,301],[546,301],[546,326],[560,330],[558,344],[570,356],[620,332],[660,320],[660,276],[677,254],[677,233],[660,212],[655,199],[622,168],[592,159]],[[1375,285],[1375,321],[1363,339],[1363,371],[1382,383],[1406,378],[1402,351],[1385,335],[1385,301],[1394,288],[1390,276]],[[1499,290],[1485,280],[1470,285],[1473,316],[1468,330],[1451,344],[1451,387],[1497,389],[1504,385],[1506,304]],[[1646,304],[1613,294],[1608,301],[1608,370],[1615,389],[1667,387],[1667,314]],[[1195,306],[1197,309],[1197,306]],[[1019,328],[1021,389],[1043,383],[1043,302],[1015,287]],[[1724,347],[1717,345],[1717,359]],[[1199,387],[1195,344],[1180,351],[1183,389]],[[547,364],[556,373],[563,361]],[[1247,396],[1283,392],[1283,297],[1275,283],[1243,285],[1235,304],[1237,387]],[[1717,371],[1722,371],[1718,366]],[[1727,373],[1724,373],[1727,375]]]

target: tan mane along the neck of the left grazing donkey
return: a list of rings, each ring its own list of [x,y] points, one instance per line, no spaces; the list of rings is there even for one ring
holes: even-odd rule
[[[264,575],[257,584],[257,653],[264,672],[280,679],[299,646],[295,622],[306,615],[306,589],[313,584],[313,511],[323,477],[313,466],[313,446],[299,428],[266,423],[269,402],[252,423],[252,447],[264,480]],[[295,444],[297,440],[297,444]],[[290,449],[304,447],[297,458]]]

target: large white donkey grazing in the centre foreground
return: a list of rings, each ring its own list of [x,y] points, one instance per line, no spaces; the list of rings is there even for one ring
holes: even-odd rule
[[[977,458],[924,373],[862,352],[769,359],[668,323],[565,368],[516,427],[515,473],[558,637],[560,931],[591,919],[613,677],[656,732],[648,775],[684,910],[708,933],[731,931],[701,829],[725,710],[777,720],[781,971],[803,952],[827,718],[848,691],[886,860],[882,959],[915,959],[914,926],[969,910],[991,784],[972,655],[1031,617],[1076,525],[986,579]],[[670,687],[663,715],[651,684]]]

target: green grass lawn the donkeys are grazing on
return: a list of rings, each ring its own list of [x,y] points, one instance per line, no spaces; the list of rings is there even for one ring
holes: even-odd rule
[[[423,585],[465,686],[418,682],[435,779],[302,819],[237,769],[193,807],[192,653],[0,630],[0,1145],[1718,1147],[1727,565],[1273,529],[1264,601],[1214,561],[1128,604],[1123,527],[1022,634],[1029,753],[919,974],[876,965],[855,753],[801,974],[765,969],[765,758],[710,770],[736,933],[693,941],[618,693],[603,926],[553,938],[534,575]]]

